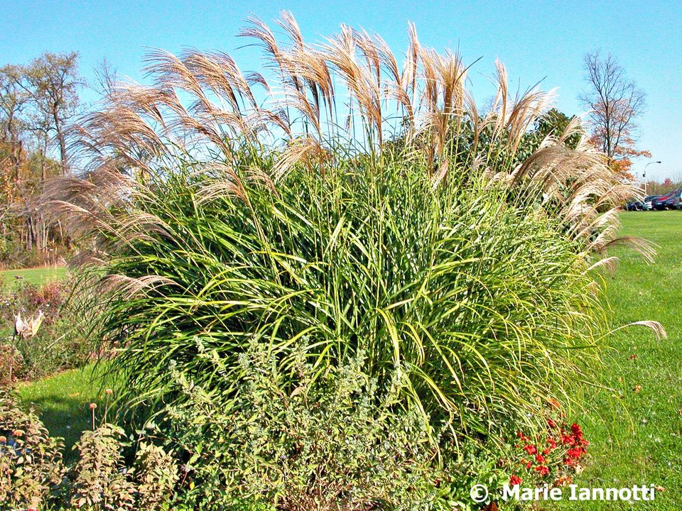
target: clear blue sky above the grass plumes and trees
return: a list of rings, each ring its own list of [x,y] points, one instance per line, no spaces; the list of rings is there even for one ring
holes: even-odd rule
[[[0,65],[25,63],[44,50],[78,51],[81,72],[106,57],[119,75],[143,81],[148,48],[186,47],[233,53],[249,13],[270,22],[282,9],[296,16],[305,38],[322,40],[340,23],[376,31],[397,55],[406,48],[408,21],[423,44],[459,48],[465,62],[482,57],[470,78],[477,97],[492,94],[487,77],[499,57],[510,82],[526,89],[543,80],[558,87],[557,106],[583,111],[578,94],[583,55],[610,52],[648,95],[639,146],[651,150],[647,176],[682,179],[682,2],[678,1],[56,1],[0,3]],[[274,24],[274,23],[273,23]],[[260,67],[253,48],[237,50],[244,70]],[[94,99],[94,94],[86,94]],[[641,175],[646,160],[634,165]]]

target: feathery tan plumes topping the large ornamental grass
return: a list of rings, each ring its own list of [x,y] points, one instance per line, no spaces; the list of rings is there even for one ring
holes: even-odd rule
[[[279,23],[287,43],[278,43],[257,18],[240,34],[264,46],[274,71],[270,79],[260,72],[244,75],[222,52],[190,50],[180,57],[153,52],[146,70],[154,86],[117,87],[112,104],[75,128],[75,145],[94,153],[96,165],[111,164],[109,155],[119,167],[144,176],[158,172],[165,158],[183,158],[197,148],[202,160],[239,159],[244,142],[258,147],[264,138],[272,148],[289,148],[281,169],[309,165],[313,148],[320,158],[339,141],[354,152],[381,153],[394,150],[398,140],[406,155],[419,153],[417,158],[433,162],[430,172],[448,159],[455,172],[475,175],[475,167],[482,167],[494,182],[542,189],[553,207],[563,208],[570,225],[594,231],[580,239],[602,235],[604,243],[589,248],[605,246],[615,236],[607,222],[595,218],[615,211],[638,191],[622,183],[586,139],[575,150],[565,148],[568,137],[579,132],[579,122],[543,141],[528,140],[529,128],[553,94],[531,89],[511,99],[507,71],[496,61],[497,95],[482,116],[465,87],[467,67],[460,57],[423,47],[413,26],[400,72],[377,35],[342,26],[339,35],[315,48],[305,43],[291,13],[283,13]],[[252,84],[264,88],[262,105]],[[184,106],[177,91],[192,98],[190,104]],[[345,116],[347,138],[342,136]]]

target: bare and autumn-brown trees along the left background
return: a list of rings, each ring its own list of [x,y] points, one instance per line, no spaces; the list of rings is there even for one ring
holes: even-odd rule
[[[67,128],[85,82],[77,53],[43,53],[0,67],[0,262],[57,257],[69,240],[43,219],[37,198],[50,177],[70,172]]]

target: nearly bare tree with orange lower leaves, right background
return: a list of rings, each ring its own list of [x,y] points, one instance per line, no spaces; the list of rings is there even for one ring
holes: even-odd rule
[[[612,168],[632,177],[632,158],[651,157],[635,145],[636,121],[644,112],[646,95],[610,54],[588,53],[584,69],[588,89],[580,101],[590,111],[591,141],[607,155]]]

